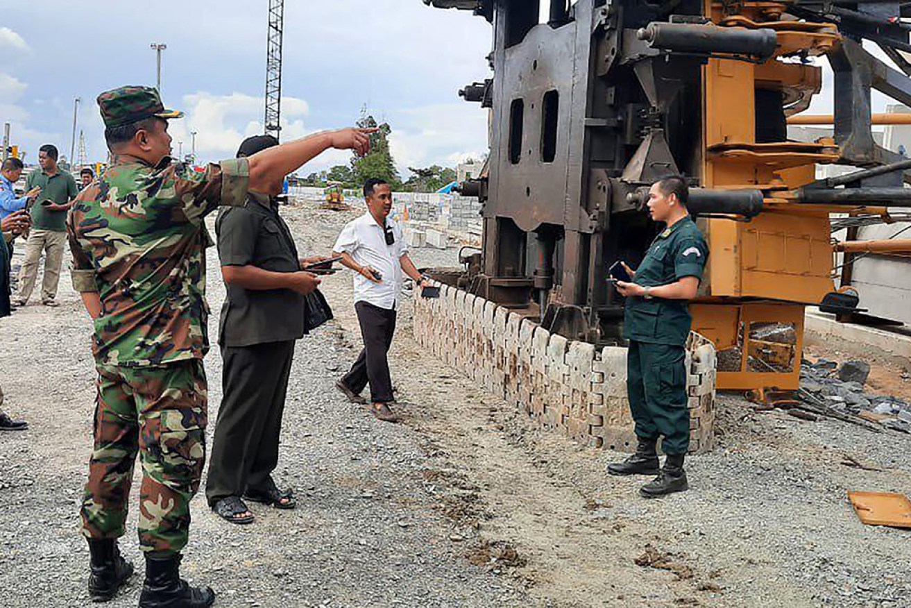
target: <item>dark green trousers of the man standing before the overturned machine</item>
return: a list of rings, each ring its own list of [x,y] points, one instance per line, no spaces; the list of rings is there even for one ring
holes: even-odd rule
[[[686,454],[690,448],[685,361],[683,346],[630,340],[627,395],[636,436],[646,440],[663,437],[665,454]]]

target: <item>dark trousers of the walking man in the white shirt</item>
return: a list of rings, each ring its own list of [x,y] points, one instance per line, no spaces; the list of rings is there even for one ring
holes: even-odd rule
[[[371,401],[390,403],[394,401],[393,381],[389,376],[389,361],[386,354],[389,352],[389,346],[393,344],[395,311],[366,302],[354,304],[354,310],[361,324],[363,350],[351,371],[342,378],[342,382],[358,395],[369,383]]]

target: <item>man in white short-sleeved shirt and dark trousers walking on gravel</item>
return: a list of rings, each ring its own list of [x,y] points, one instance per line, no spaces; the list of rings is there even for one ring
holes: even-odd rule
[[[389,404],[394,401],[386,353],[395,333],[395,310],[402,291],[403,273],[422,287],[425,279],[408,257],[408,247],[398,224],[388,219],[393,193],[384,180],[371,179],[363,185],[367,212],[348,222],[333,247],[333,255],[354,275],[354,310],[361,324],[363,350],[341,380],[335,383],[354,403],[370,384],[371,413],[385,422],[398,422]]]

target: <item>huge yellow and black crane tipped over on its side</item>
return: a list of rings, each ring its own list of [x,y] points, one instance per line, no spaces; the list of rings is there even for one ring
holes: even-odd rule
[[[704,361],[705,378],[692,364],[694,426],[711,424],[711,395],[701,397],[716,379],[720,388],[796,388],[804,307],[856,305],[853,294],[834,293],[830,214],[888,221],[885,205],[911,204],[902,188],[908,163],[875,144],[870,102],[873,88],[911,102],[903,55],[911,26],[901,21],[908,9],[863,0],[551,0],[542,20],[539,0],[425,4],[472,10],[494,26],[494,77],[460,92],[491,112],[486,171],[463,184],[484,202],[483,252],[466,257],[466,273],[441,280],[463,300],[537,320],[567,339],[565,353],[573,343],[591,345],[604,368],[621,344],[623,318],[608,268],[639,263],[658,231],[642,212],[644,189],[681,173],[712,252],[691,312],[694,332],[717,350],[717,376]],[[863,39],[901,71],[867,52]],[[821,90],[820,56],[834,69],[834,139],[789,141],[788,117]],[[817,181],[824,163],[862,170]],[[516,333],[504,325],[502,337]],[[506,345],[490,345],[497,348]],[[568,355],[550,357],[568,365]],[[496,364],[503,391],[509,397],[515,380],[517,405],[532,411],[534,391],[520,386],[521,370],[507,359]],[[597,369],[589,367],[590,385],[607,381]],[[608,438],[622,433],[598,425],[619,429],[622,417],[592,407],[592,390],[564,391],[544,421],[616,444]],[[711,444],[711,429],[699,432],[701,448]]]

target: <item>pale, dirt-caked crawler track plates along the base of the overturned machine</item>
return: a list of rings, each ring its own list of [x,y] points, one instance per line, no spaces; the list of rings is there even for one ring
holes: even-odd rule
[[[551,335],[484,298],[440,287],[439,299],[415,299],[419,344],[543,428],[593,448],[635,448],[625,348],[596,348]],[[691,452],[705,452],[714,443],[711,342],[691,334],[686,365]]]

